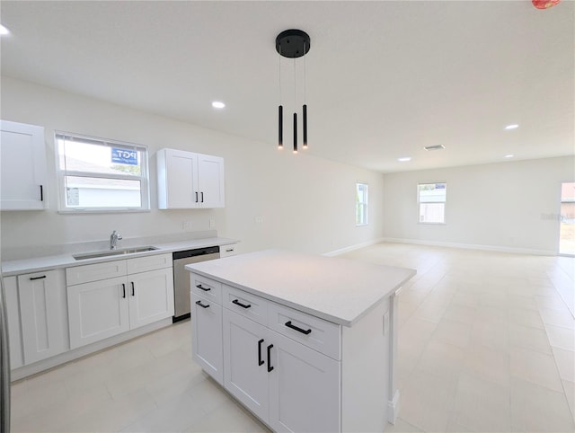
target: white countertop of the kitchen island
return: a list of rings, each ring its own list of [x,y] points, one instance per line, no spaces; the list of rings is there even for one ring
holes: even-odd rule
[[[405,284],[415,270],[279,250],[186,265],[204,277],[352,326]]]

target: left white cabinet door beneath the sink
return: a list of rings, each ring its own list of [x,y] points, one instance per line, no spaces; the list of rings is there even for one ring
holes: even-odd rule
[[[70,348],[129,331],[126,277],[67,287]]]

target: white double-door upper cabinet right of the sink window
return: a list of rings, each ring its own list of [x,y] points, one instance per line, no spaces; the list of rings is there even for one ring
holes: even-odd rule
[[[224,158],[175,149],[156,158],[158,208],[224,208]]]

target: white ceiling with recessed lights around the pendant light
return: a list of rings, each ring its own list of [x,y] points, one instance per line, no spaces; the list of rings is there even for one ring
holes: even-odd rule
[[[574,6],[3,0],[2,74],[276,146],[275,38],[297,28],[311,37],[311,154],[379,172],[573,155]],[[293,64],[281,60],[287,144]]]

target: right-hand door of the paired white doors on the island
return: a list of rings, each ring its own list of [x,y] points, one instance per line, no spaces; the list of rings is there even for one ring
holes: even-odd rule
[[[341,431],[340,363],[275,331],[270,334],[271,429]]]

